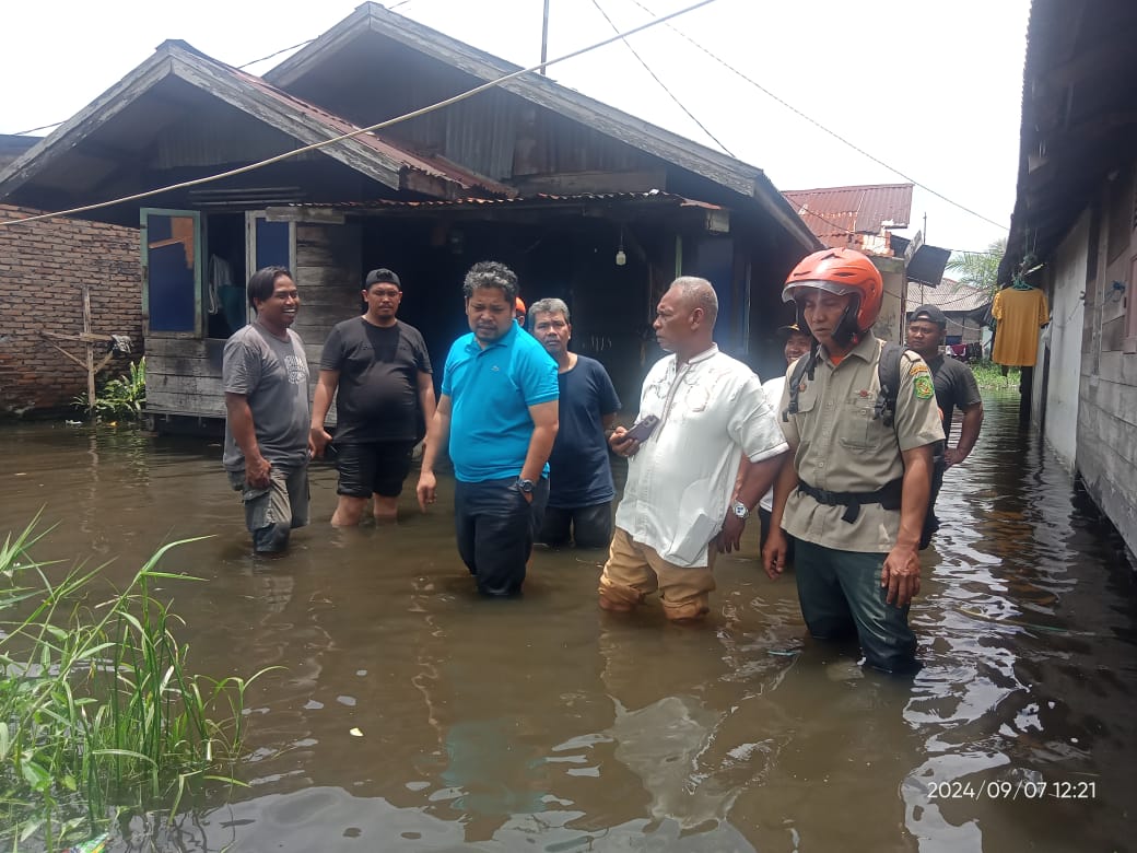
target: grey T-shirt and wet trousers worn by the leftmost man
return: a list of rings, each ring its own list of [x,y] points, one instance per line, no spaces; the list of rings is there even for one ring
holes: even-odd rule
[[[226,419],[223,464],[241,492],[254,549],[263,554],[283,550],[289,531],[308,523],[308,361],[300,336],[287,332],[281,340],[250,323],[225,342],[222,361],[222,388],[246,397],[257,447],[272,463],[268,488],[249,487]]]

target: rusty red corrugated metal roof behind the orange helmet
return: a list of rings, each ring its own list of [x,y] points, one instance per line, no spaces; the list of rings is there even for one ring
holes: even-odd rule
[[[785,190],[782,196],[827,246],[846,246],[850,233],[879,234],[889,222],[907,227],[912,215],[910,183]]]

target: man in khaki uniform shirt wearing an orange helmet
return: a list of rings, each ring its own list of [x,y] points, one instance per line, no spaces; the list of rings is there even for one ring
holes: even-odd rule
[[[872,262],[852,249],[811,255],[786,283],[782,298],[797,304],[820,346],[803,356],[811,361],[796,394],[789,381],[782,392],[794,464],[774,487],[763,564],[778,578],[786,533],[797,538],[795,577],[810,633],[855,631],[865,663],[902,673],[918,668],[908,604],[920,591],[920,531],[944,430],[928,365],[914,353],[901,357],[895,423],[878,412],[885,342],[869,329],[882,292]]]

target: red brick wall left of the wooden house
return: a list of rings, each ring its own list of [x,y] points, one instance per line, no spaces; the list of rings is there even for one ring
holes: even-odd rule
[[[36,214],[0,205],[0,221]],[[128,372],[142,355],[139,234],[134,229],[56,217],[0,226],[0,417],[67,411],[86,391],[86,371],[55,349],[40,329],[83,331],[83,282],[91,288],[91,331],[127,334],[132,356],[116,355],[99,381]],[[80,361],[77,341],[52,341]],[[96,364],[107,348],[96,345]]]

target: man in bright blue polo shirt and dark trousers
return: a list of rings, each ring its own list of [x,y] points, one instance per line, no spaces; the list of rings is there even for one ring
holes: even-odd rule
[[[454,463],[458,554],[478,591],[521,591],[525,562],[549,498],[548,458],[557,436],[557,364],[514,320],[517,276],[474,264],[463,293],[470,334],[450,347],[442,394],[426,430],[418,505],[434,503],[434,459]]]

